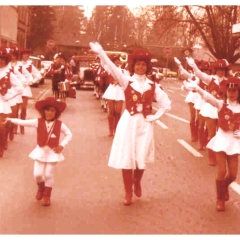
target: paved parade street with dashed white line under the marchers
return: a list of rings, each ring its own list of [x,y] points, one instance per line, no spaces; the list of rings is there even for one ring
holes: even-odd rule
[[[217,212],[217,167],[190,140],[187,93],[178,80],[161,83],[172,109],[154,123],[155,163],[147,165],[141,198],[123,205],[121,170],[107,166],[113,139],[107,113],[93,91],[77,90],[60,117],[73,139],[55,169],[51,206],[35,199],[28,154],[36,146],[36,129],[26,128],[9,142],[0,159],[0,234],[240,234],[240,179],[230,186],[225,212]],[[32,92],[27,119],[38,117],[36,100],[52,96],[51,81]]]

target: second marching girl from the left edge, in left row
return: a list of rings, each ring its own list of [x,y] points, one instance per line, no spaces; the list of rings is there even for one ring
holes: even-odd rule
[[[9,47],[9,54],[11,56],[11,61],[8,63],[10,70],[16,75],[18,80],[23,85],[23,92],[15,97],[16,105],[12,106],[11,117],[19,117],[19,109],[23,103],[23,96],[29,96],[31,93],[30,84],[33,82],[32,75],[27,71],[27,69],[19,61],[19,48],[16,46]],[[11,124],[9,138],[13,140],[14,134],[17,133],[17,125]]]

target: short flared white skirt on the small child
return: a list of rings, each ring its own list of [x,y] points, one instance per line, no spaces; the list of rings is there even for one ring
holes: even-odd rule
[[[55,153],[50,147],[39,147],[38,145],[29,154],[29,157],[33,160],[40,162],[60,162],[65,158],[62,153]]]

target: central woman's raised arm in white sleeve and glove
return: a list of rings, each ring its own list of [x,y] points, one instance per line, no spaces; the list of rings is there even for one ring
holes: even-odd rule
[[[118,81],[119,85],[123,87],[123,89],[126,89],[128,82],[129,82],[129,76],[124,74],[120,68],[118,68],[107,56],[105,51],[103,50],[102,46],[95,42],[90,42],[89,46],[93,52],[98,54],[98,57],[101,60],[102,67],[112,75],[112,77]]]

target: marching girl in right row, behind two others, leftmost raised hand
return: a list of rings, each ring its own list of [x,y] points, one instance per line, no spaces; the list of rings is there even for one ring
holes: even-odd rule
[[[201,79],[195,76],[194,72],[190,73],[183,68],[181,62],[175,57],[175,62],[178,65],[179,72],[184,79],[196,80],[201,88],[207,89],[207,84],[205,84]],[[209,62],[203,60],[194,60],[198,68],[207,74],[211,73],[211,68]],[[192,70],[192,68],[191,68]],[[190,109],[190,131],[191,131],[191,141],[198,141],[198,150],[204,150],[207,144],[207,126],[206,119],[202,115],[201,109],[204,105],[204,100],[198,92],[189,91],[185,102],[189,104]],[[210,164],[211,165],[211,164]]]

